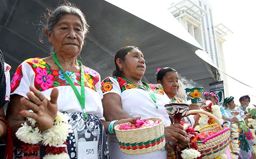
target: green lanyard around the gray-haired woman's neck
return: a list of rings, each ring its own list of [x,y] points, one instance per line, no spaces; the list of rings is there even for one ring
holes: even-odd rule
[[[66,72],[62,69],[59,60],[57,59],[56,53],[54,53],[52,55],[53,60],[55,61],[55,63],[60,67],[60,69],[62,70],[67,82],[70,84],[71,88],[73,89],[75,95],[77,96],[77,99],[83,109],[83,113],[84,113],[84,117],[85,119],[87,119],[87,115],[85,112],[85,74],[84,74],[84,69],[82,67],[82,63],[77,60],[77,63],[80,65],[81,67],[81,95],[79,94],[79,92],[77,91],[77,88],[75,87],[74,82],[72,82],[72,80],[70,80],[70,77],[68,77],[68,75],[66,74]]]

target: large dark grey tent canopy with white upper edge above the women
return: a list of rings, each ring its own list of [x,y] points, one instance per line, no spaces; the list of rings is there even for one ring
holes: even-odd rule
[[[154,74],[159,67],[173,67],[192,80],[213,77],[210,66],[195,54],[201,46],[189,37],[189,33],[171,13],[167,12],[170,19],[154,23],[152,19],[157,20],[157,16],[163,16],[157,7],[152,10],[147,5],[139,5],[137,8],[143,8],[144,17],[146,14],[157,15],[152,19],[144,19],[138,15],[139,12],[127,12],[120,6],[117,7],[116,3],[109,3],[110,1],[70,2],[80,7],[90,25],[81,61],[99,71],[102,78],[109,76],[114,69],[114,54],[123,46],[138,46],[142,50],[147,65],[145,80],[149,82],[155,82]],[[12,66],[11,74],[14,74],[23,60],[49,55],[47,44],[37,40],[35,24],[39,23],[45,8],[55,7],[58,1],[3,0],[0,3],[0,49],[5,61]]]

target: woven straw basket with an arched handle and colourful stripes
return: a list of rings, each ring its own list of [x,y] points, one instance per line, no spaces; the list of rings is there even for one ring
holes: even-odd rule
[[[230,142],[230,128],[229,124],[221,124],[221,121],[211,113],[203,110],[192,110],[189,114],[201,113],[210,116],[216,121],[216,124],[211,124],[199,129],[201,132],[218,132],[203,141],[196,141],[198,151],[201,153],[202,159],[214,159],[221,156],[226,151]]]

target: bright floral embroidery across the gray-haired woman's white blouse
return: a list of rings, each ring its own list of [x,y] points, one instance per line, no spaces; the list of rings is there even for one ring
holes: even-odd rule
[[[45,91],[49,88],[58,87],[58,86],[67,86],[68,84],[62,70],[52,70],[50,65],[48,65],[45,61],[40,58],[30,58],[25,60],[28,63],[32,70],[35,73],[35,87],[39,91]],[[17,68],[14,77],[11,82],[11,92],[14,92],[15,89],[20,84],[20,80],[22,78],[22,65]],[[95,84],[99,82],[99,73],[92,70],[89,67],[85,67],[85,86],[89,87],[96,91]],[[90,73],[90,74],[88,74]],[[80,72],[74,71],[66,71],[68,77],[70,77],[71,81],[74,82],[76,86],[81,85],[81,75]]]

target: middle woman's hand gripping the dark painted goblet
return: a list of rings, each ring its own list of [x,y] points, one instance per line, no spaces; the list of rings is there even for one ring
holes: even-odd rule
[[[183,126],[180,124],[165,125],[164,136],[168,142],[186,141],[186,131],[183,130]]]

